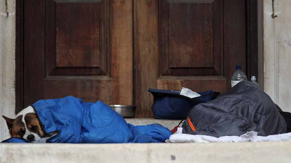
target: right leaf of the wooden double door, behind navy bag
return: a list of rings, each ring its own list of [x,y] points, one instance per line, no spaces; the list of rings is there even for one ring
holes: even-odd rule
[[[246,67],[245,1],[135,1],[137,117],[153,117],[148,88],[195,92],[230,89]]]

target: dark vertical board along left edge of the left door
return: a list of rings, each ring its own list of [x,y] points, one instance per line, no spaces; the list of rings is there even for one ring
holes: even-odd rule
[[[45,3],[24,2],[24,107],[44,98]]]

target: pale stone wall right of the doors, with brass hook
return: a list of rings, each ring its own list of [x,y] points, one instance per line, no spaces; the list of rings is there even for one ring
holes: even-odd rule
[[[291,1],[264,0],[264,91],[291,112]]]

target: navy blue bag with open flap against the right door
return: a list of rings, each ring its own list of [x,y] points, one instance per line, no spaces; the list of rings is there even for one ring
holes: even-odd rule
[[[182,120],[192,107],[213,100],[219,94],[219,92],[209,90],[198,92],[201,95],[199,97],[190,98],[180,95],[181,91],[160,89],[148,89],[148,91],[154,96],[154,102],[151,106],[154,118],[176,120]]]

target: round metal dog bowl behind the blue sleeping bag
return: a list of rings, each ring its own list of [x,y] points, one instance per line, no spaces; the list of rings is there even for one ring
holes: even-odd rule
[[[109,105],[109,107],[123,118],[133,118],[135,115],[136,105]]]

